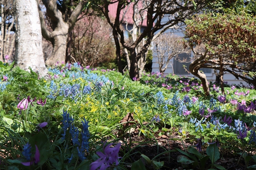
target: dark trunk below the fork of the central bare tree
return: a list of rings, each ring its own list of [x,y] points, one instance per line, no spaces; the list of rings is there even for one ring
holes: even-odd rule
[[[135,50],[130,50],[131,53],[131,67],[130,67],[130,78],[136,78],[137,81],[140,80],[140,72],[138,67],[137,55]]]

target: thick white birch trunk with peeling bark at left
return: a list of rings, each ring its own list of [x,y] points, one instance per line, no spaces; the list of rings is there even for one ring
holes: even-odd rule
[[[36,71],[44,77],[48,70],[44,64],[42,33],[35,0],[16,0],[15,65]]]

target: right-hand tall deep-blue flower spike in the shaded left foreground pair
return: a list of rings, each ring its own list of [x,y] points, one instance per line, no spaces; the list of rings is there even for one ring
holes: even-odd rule
[[[78,151],[79,158],[81,160],[84,160],[86,159],[86,157],[84,156],[85,150],[89,152],[89,137],[90,137],[88,122],[85,120],[85,118],[84,118],[84,121],[82,121],[82,125],[83,125],[83,128],[81,131],[81,137],[82,137],[81,147],[80,148],[77,147],[77,151]]]

